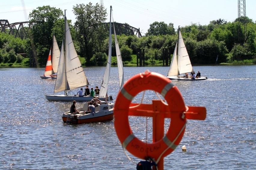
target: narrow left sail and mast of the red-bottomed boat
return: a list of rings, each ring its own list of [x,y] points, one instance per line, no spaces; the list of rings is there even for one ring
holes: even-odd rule
[[[108,92],[108,81],[110,75],[110,68],[111,68],[111,44],[112,44],[112,37],[111,37],[111,10],[112,7],[110,6],[110,22],[109,22],[109,41],[108,41],[108,61],[106,70],[103,76],[103,80],[100,86],[99,97],[105,97]]]

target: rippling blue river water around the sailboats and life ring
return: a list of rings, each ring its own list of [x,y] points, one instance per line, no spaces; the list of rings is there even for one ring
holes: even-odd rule
[[[166,75],[168,67],[124,67],[125,79],[145,70]],[[181,143],[165,157],[164,168],[256,169],[256,66],[194,66],[194,70],[208,80],[173,83],[187,106],[206,107],[206,120],[187,121]],[[104,67],[84,71],[89,88],[100,86]],[[130,153],[132,161],[127,159],[113,121],[62,122],[71,102],[46,100],[45,95],[53,94],[55,80],[41,79],[43,73],[44,68],[0,69],[0,169],[136,169],[140,159]],[[112,67],[108,94],[115,99],[118,90],[117,67]],[[137,95],[134,102],[140,98]],[[146,92],[144,101],[156,98]],[[82,107],[83,102],[76,105]],[[150,119],[131,119],[133,133],[150,141]]]

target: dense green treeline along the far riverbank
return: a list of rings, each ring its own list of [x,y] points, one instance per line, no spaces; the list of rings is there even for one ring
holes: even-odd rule
[[[105,27],[106,9],[99,4],[77,4],[73,6],[76,22],[70,29],[75,48],[84,65],[105,65],[108,54],[108,28]],[[236,19],[227,22],[224,19],[210,21],[209,25],[191,24],[181,27],[191,63],[256,63],[256,22],[246,18],[246,35],[243,25]],[[28,65],[20,54],[36,51],[39,66],[44,66],[52,45],[53,33],[61,46],[64,19],[63,11],[55,7],[38,7],[29,14],[32,28],[29,39],[21,40],[5,33],[0,34],[0,66]],[[117,29],[117,28],[116,28]],[[113,36],[113,35],[112,35]],[[124,64],[136,64],[132,60],[137,49],[145,50],[145,64],[162,64],[162,49],[174,51],[178,39],[177,29],[173,24],[154,22],[144,37],[135,35],[117,36]],[[115,56],[114,37],[112,38],[112,56]],[[23,63],[21,63],[23,62]],[[115,60],[112,62],[116,64]]]

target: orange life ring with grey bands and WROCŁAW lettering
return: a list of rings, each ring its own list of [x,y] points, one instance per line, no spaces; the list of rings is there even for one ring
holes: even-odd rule
[[[168,103],[166,107],[171,116],[166,135],[153,143],[142,142],[134,136],[128,120],[131,101],[139,92],[145,90],[160,93]],[[180,143],[185,131],[185,111],[186,106],[180,91],[168,78],[155,72],[140,73],[130,78],[118,92],[114,106],[114,127],[123,148],[131,154],[141,159],[158,159],[170,154]]]

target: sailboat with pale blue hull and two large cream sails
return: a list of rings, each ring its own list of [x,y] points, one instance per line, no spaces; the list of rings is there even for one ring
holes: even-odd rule
[[[91,101],[92,96],[71,95],[70,90],[89,85],[84,69],[75,51],[65,10],[65,35],[59,55],[58,76],[54,93],[64,91],[63,95],[46,95],[49,101]],[[102,98],[103,99],[103,98]]]

